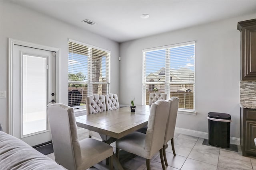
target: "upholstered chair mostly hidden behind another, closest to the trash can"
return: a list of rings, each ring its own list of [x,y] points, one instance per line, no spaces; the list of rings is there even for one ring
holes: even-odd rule
[[[173,155],[176,156],[173,138],[174,138],[174,130],[175,130],[176,118],[177,118],[178,107],[179,107],[179,98],[172,97],[169,99],[169,102],[170,102],[170,111],[169,111],[169,118],[167,122],[166,131],[165,131],[164,147],[163,147],[164,162],[166,166],[168,166],[168,162],[166,158],[165,149],[168,147],[167,142],[170,140],[171,140]]]

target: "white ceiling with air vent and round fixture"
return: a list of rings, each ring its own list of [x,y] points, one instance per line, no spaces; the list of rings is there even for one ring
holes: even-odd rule
[[[256,12],[256,1],[202,0],[17,0],[52,18],[116,42]],[[141,19],[141,14],[149,14]],[[91,20],[94,25],[83,23]]]

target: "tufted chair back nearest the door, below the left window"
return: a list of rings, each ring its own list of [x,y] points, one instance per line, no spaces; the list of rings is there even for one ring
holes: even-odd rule
[[[106,111],[105,96],[94,94],[86,97],[86,112],[87,114]]]

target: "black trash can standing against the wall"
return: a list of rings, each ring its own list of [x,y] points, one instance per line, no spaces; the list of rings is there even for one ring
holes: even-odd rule
[[[229,148],[231,115],[227,113],[208,113],[209,145]]]

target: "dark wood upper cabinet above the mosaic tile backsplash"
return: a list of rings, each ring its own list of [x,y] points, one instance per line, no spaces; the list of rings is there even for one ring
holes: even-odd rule
[[[256,80],[256,19],[240,21],[241,80]]]

